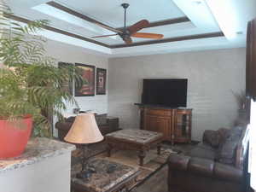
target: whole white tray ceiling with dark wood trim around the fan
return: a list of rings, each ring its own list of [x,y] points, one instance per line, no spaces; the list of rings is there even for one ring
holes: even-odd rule
[[[44,37],[109,56],[216,49],[216,44],[220,49],[242,47],[246,42],[247,20],[256,16],[253,0],[242,3],[240,0],[94,0],[90,3],[80,0],[8,0],[7,3],[15,20],[50,20],[48,30],[40,32]],[[151,27],[140,32],[161,33],[164,39],[132,38],[133,44],[127,45],[119,37],[91,38],[113,32],[86,18],[120,28],[124,25],[121,3],[131,4],[127,9],[128,26],[147,19]],[[232,17],[227,16],[229,13]]]

